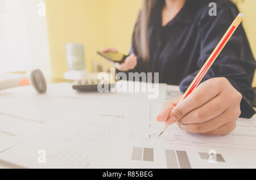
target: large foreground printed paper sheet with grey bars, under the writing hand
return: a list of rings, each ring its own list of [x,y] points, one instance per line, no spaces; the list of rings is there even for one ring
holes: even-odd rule
[[[173,92],[176,96],[177,87]],[[155,117],[164,101],[136,100],[106,98],[89,112],[83,102],[71,101],[71,111],[44,123],[40,135],[0,153],[0,158],[27,168],[256,167],[255,117],[239,119],[227,136],[189,134],[173,125],[158,138],[164,125]],[[46,152],[46,163],[38,161],[40,149]],[[216,163],[209,162],[212,150]]]

